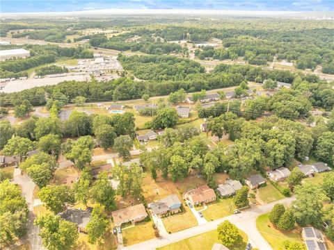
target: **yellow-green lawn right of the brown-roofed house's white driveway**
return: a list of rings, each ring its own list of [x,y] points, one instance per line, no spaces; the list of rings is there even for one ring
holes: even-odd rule
[[[217,199],[214,203],[207,204],[207,209],[202,211],[207,221],[231,215],[235,209],[233,198]]]

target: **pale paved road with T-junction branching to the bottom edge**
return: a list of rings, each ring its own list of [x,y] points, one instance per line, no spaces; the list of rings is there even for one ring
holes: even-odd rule
[[[134,244],[129,247],[122,247],[121,249],[125,250],[150,250],[156,249],[157,247],[163,247],[167,244],[171,244],[173,242],[178,242],[180,240],[184,240],[186,238],[190,238],[195,235],[199,235],[201,233],[206,233],[208,231],[212,231],[217,228],[218,224],[221,224],[224,220],[228,219],[230,222],[238,226],[241,230],[243,230],[247,235],[250,242],[253,242],[253,246],[257,247],[260,250],[271,250],[271,246],[269,243],[262,238],[262,235],[257,231],[256,228],[256,218],[259,215],[264,213],[268,213],[276,203],[285,203],[289,204],[294,200],[294,197],[282,199],[280,201],[276,201],[273,203],[269,203],[262,206],[257,206],[255,208],[251,208],[245,212],[242,212],[239,215],[230,215],[228,217],[223,217],[221,219],[216,219],[212,222],[207,222],[206,224],[201,224],[177,233],[171,233],[162,237],[161,239],[154,238],[152,240],[148,240],[146,242],[141,242],[139,244]]]

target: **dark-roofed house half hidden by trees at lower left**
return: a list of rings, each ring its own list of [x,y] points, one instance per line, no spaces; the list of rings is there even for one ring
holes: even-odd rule
[[[79,231],[85,232],[93,208],[87,208],[86,210],[70,208],[61,213],[61,217],[68,222],[77,224]]]

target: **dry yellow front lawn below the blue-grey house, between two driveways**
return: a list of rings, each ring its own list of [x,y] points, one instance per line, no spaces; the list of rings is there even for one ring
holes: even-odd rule
[[[183,206],[183,212],[170,215],[164,219],[164,226],[168,233],[175,233],[186,228],[197,226],[197,220],[188,206]]]

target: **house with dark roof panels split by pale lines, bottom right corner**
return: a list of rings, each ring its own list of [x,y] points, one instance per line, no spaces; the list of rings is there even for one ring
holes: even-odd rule
[[[327,250],[324,235],[314,227],[305,227],[301,231],[301,236],[307,250]]]

